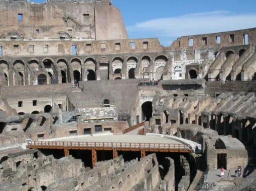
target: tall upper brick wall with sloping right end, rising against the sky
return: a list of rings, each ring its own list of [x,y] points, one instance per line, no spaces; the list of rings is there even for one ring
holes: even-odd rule
[[[0,38],[7,39],[127,38],[121,14],[109,0],[0,0],[0,25]]]

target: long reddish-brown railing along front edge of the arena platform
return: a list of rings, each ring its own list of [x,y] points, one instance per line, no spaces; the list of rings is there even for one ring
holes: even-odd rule
[[[174,143],[136,143],[136,142],[71,142],[71,141],[34,141],[29,140],[28,146],[32,147],[46,147],[46,148],[65,148],[65,147],[79,147],[79,148],[119,148],[119,149],[177,149],[190,150],[185,144]]]

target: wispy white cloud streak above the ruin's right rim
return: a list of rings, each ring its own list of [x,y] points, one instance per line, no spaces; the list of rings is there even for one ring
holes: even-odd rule
[[[184,36],[256,27],[256,13],[233,14],[225,10],[157,18],[128,26],[129,32],[157,36]]]

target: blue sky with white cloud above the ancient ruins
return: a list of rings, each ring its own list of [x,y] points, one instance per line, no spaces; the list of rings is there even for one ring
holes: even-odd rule
[[[112,3],[121,10],[130,38],[158,37],[163,45],[170,45],[182,35],[256,27],[256,0],[112,0]]]

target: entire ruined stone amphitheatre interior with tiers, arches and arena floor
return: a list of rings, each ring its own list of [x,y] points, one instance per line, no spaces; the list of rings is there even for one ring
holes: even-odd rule
[[[0,10],[0,190],[256,190],[256,28],[165,47],[109,0]]]

